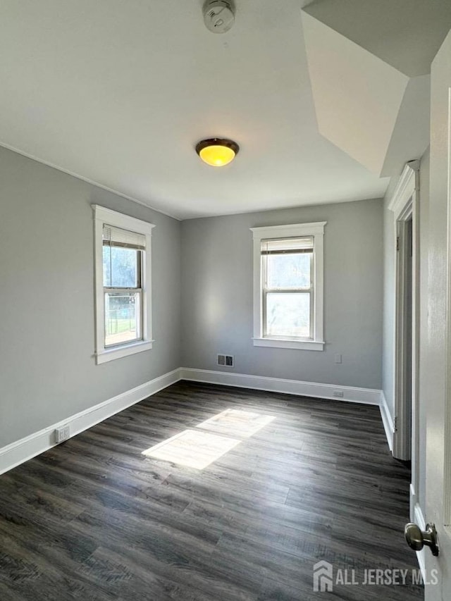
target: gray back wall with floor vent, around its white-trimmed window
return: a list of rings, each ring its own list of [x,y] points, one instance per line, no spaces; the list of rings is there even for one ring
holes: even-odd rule
[[[326,350],[254,347],[249,228],[311,221],[328,222]],[[380,389],[382,232],[380,199],[184,221],[183,366],[219,370],[216,354],[226,352],[236,373]]]

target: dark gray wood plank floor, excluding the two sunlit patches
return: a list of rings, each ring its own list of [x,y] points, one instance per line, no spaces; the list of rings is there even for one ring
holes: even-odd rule
[[[228,408],[276,419],[203,471],[142,455]],[[362,584],[418,568],[409,477],[376,407],[180,382],[0,476],[0,600],[422,599]],[[360,584],[314,593],[321,560]]]

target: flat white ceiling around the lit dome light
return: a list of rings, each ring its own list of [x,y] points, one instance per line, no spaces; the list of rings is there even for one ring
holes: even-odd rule
[[[2,0],[0,144],[178,218],[383,196],[317,128],[307,1]],[[231,137],[224,168],[194,151]]]

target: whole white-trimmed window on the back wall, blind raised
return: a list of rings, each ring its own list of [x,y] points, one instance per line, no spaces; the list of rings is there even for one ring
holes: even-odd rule
[[[323,350],[325,225],[251,228],[254,346]]]

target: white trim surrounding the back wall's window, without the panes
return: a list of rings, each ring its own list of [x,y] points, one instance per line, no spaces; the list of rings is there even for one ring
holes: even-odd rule
[[[271,225],[250,228],[254,238],[254,347],[277,347],[280,349],[302,349],[323,351],[324,349],[324,226],[327,221],[295,223],[293,225]],[[314,338],[313,340],[290,340],[287,338],[263,337],[261,295],[261,240],[266,238],[314,237]]]

